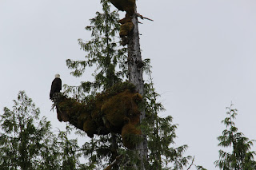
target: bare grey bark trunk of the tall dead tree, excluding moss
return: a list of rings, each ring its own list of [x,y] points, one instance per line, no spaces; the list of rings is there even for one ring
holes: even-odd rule
[[[136,6],[135,6],[136,13]],[[144,81],[143,81],[143,61],[142,54],[139,45],[139,34],[138,34],[138,18],[137,15],[133,15],[132,22],[134,23],[134,30],[127,36],[128,38],[128,74],[129,81],[136,86],[136,90],[142,96],[144,94]],[[142,110],[140,115],[140,122],[145,119],[145,110]],[[143,134],[143,132],[142,132]],[[140,142],[135,148],[138,152],[142,164],[139,169],[146,169],[143,160],[147,160],[147,140],[146,136],[142,135],[142,142]]]

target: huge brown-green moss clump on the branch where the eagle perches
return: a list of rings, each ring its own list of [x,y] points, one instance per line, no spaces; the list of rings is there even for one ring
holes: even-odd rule
[[[132,148],[127,135],[140,133],[135,125],[139,123],[138,104],[141,101],[142,96],[135,91],[134,85],[123,82],[94,97],[88,97],[82,103],[60,93],[55,105],[59,121],[69,121],[90,137],[94,134],[122,133],[122,136],[126,136],[124,139],[126,147]]]

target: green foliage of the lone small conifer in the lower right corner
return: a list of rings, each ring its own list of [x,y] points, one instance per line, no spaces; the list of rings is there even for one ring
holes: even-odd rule
[[[250,148],[253,146],[254,140],[249,140],[235,127],[234,119],[238,114],[237,109],[232,109],[232,105],[227,109],[228,117],[222,121],[222,124],[226,125],[226,129],[223,130],[222,136],[218,136],[218,146],[231,148],[232,152],[219,150],[219,160],[214,164],[220,169],[253,170],[256,168],[254,161],[256,152],[250,151]]]

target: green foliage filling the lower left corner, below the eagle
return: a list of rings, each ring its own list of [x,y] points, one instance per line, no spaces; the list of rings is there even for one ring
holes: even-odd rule
[[[66,132],[58,137],[50,121],[39,119],[40,110],[24,91],[18,93],[13,109],[4,108],[0,116],[0,169],[72,170],[80,166],[77,140]]]

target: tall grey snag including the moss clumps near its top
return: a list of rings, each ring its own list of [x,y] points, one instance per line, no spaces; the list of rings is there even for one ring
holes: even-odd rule
[[[126,11],[126,18],[123,18],[120,23],[120,37],[122,45],[128,44],[128,76],[129,81],[135,85],[136,91],[142,96],[144,95],[143,81],[143,61],[139,45],[138,34],[138,14],[136,2],[134,0],[110,0],[110,2],[118,8],[118,10]],[[145,110],[142,110],[140,122],[145,119]],[[140,160],[146,160],[147,157],[147,141],[146,136],[142,134],[142,140],[137,144],[136,151]],[[143,161],[142,161],[143,162]],[[144,164],[140,165],[141,169],[145,169]]]

